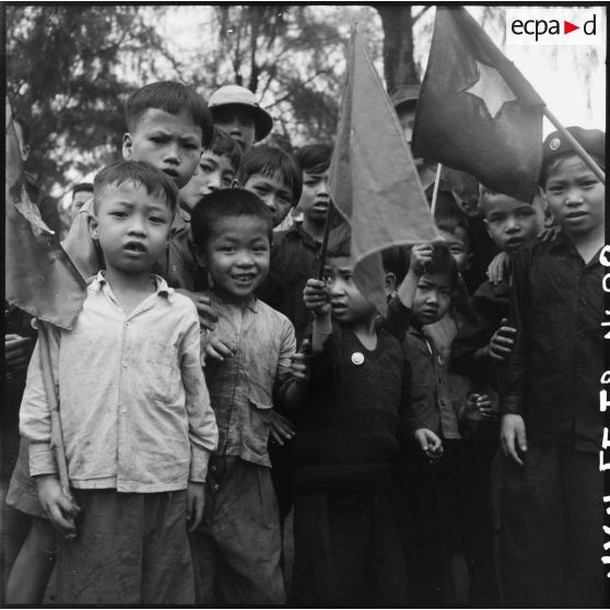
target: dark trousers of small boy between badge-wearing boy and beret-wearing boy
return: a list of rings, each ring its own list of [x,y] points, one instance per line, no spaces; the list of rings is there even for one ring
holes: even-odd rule
[[[401,456],[392,503],[415,608],[457,603],[451,570],[464,551],[470,582],[470,605],[498,605],[493,552],[493,517],[489,461],[461,441],[445,441],[445,453],[430,462],[419,447]],[[477,460],[480,460],[477,462]]]

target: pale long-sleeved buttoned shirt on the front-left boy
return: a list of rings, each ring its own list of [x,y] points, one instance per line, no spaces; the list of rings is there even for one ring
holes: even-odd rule
[[[99,272],[71,331],[50,336],[70,483],[152,493],[203,482],[218,427],[200,365],[195,305],[155,275],[128,316]],[[32,476],[57,472],[38,345],[20,429]]]

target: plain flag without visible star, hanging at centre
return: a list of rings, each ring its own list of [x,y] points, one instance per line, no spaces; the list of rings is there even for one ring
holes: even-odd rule
[[[438,234],[398,116],[355,27],[328,187],[351,225],[354,281],[385,314],[380,251]]]

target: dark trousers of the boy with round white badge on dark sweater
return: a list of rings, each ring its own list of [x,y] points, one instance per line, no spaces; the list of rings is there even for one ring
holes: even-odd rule
[[[407,582],[389,497],[298,491],[294,603],[404,607]]]

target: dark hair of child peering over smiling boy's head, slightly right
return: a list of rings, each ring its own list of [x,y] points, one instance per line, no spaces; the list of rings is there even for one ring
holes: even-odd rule
[[[254,174],[273,176],[277,173],[292,190],[292,204],[296,206],[303,190],[303,173],[294,156],[281,149],[267,145],[250,149],[242,160],[237,179],[244,186]]]

